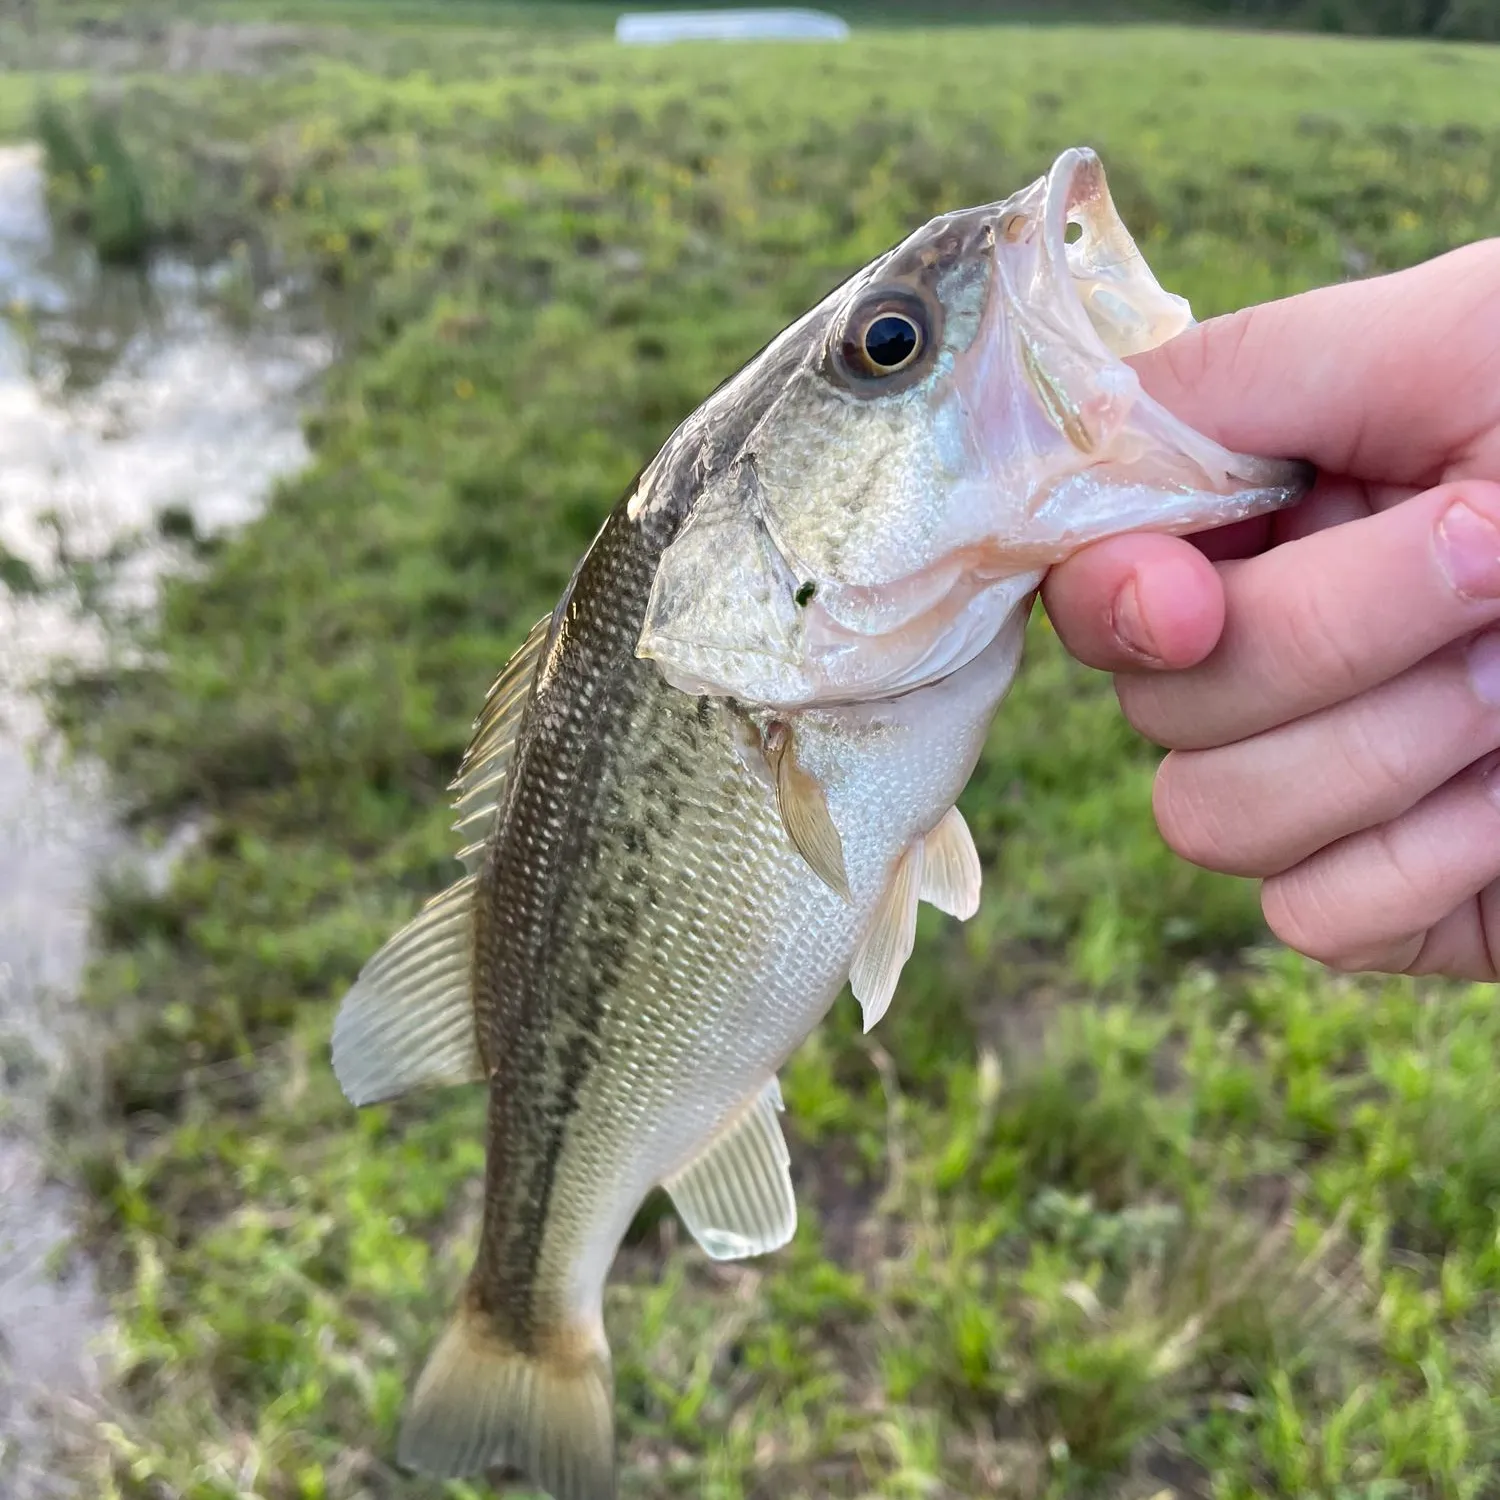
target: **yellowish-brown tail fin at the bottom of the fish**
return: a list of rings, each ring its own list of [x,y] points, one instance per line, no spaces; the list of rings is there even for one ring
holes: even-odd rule
[[[608,1346],[573,1330],[550,1342],[556,1353],[512,1347],[465,1298],[417,1380],[402,1466],[435,1478],[516,1468],[554,1500],[615,1500]]]

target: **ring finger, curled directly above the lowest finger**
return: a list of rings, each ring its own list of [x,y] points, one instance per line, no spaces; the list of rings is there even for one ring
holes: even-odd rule
[[[1215,750],[1174,752],[1156,777],[1156,822],[1194,864],[1280,874],[1398,818],[1494,748],[1500,628],[1290,724]]]

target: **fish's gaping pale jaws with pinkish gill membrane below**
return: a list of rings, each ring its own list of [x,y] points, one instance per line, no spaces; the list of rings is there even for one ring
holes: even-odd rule
[[[990,444],[978,488],[994,496],[993,530],[940,567],[825,584],[804,618],[825,699],[840,676],[842,692],[873,698],[951,674],[1089,542],[1268,514],[1312,482],[1311,465],[1233,453],[1142,388],[1126,360],[1191,328],[1192,310],[1152,274],[1092,150],[1064,152],[988,224],[996,276],[968,380]]]

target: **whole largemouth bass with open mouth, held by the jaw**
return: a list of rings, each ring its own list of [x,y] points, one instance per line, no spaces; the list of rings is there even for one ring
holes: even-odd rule
[[[1143,392],[1128,357],[1191,322],[1070,148],[836,286],[603,519],[476,720],[462,876],[334,1018],[356,1106],[488,1092],[404,1467],[614,1500],[620,1244],[658,1186],[711,1258],[792,1239],[778,1071],[844,984],[879,1023],[921,902],[978,909],[957,802],[1047,568],[1310,488]]]

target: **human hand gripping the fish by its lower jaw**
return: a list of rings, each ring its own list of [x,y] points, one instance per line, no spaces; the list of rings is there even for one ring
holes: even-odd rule
[[[1131,362],[1294,510],[1052,570],[1064,644],[1170,753],[1156,822],[1341,969],[1500,978],[1500,240]]]

